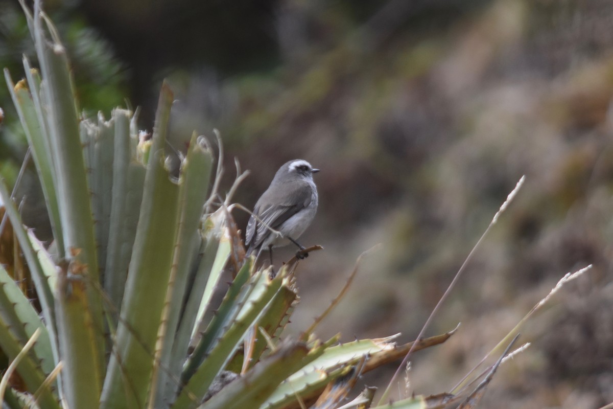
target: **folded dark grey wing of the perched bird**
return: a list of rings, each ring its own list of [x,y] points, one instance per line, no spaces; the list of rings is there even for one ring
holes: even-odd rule
[[[257,201],[254,213],[267,226],[275,230],[278,229],[284,221],[311,203],[312,193],[311,189],[305,189],[307,184],[308,182],[295,182],[287,189],[286,201],[278,204],[270,204],[270,201],[267,200],[268,191],[265,191]],[[262,204],[264,205],[262,206]],[[258,248],[270,234],[272,232],[264,224],[259,223],[256,218],[251,216],[247,224],[245,245],[249,246],[249,249]]]

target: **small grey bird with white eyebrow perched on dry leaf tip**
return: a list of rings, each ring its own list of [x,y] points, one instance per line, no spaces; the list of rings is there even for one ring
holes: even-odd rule
[[[317,188],[313,182],[316,172],[319,169],[313,169],[303,159],[289,161],[277,170],[270,186],[257,200],[253,214],[280,235],[267,229],[252,215],[245,238],[247,255],[257,251],[259,256],[262,250],[269,250],[272,264],[273,247],[283,247],[292,242],[304,250],[296,240],[311,224],[317,211]]]

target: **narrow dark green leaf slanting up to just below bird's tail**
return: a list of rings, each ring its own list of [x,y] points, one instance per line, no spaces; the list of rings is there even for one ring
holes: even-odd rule
[[[202,361],[204,361],[207,354],[210,353],[213,347],[215,347],[216,343],[219,342],[219,339],[221,339],[224,332],[227,331],[227,328],[229,328],[236,320],[238,310],[240,310],[240,307],[242,306],[242,304],[240,304],[240,294],[242,292],[247,292],[249,288],[253,288],[255,283],[255,280],[251,280],[249,284],[246,285],[247,280],[249,279],[250,271],[251,260],[249,259],[238,271],[238,274],[234,281],[232,281],[232,284],[226,292],[221,305],[219,305],[215,316],[213,319],[211,319],[211,322],[204,334],[202,334],[202,338],[200,338],[196,349],[188,358],[181,377],[184,383],[191,378],[194,372],[196,372],[197,367],[202,364]],[[245,300],[242,300],[242,302],[244,303]]]

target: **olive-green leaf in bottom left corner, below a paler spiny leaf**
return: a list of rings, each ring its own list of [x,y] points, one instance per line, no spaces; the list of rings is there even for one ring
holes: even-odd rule
[[[4,319],[2,319],[2,316],[0,316],[0,346],[2,351],[9,357],[10,361],[13,361],[13,359],[17,357],[23,345],[24,344],[15,338],[11,328]],[[21,358],[17,365],[17,372],[25,382],[28,392],[34,394],[34,392],[40,389],[39,403],[42,407],[45,409],[60,408],[57,398],[53,395],[53,392],[51,392],[51,388],[48,385],[45,386],[45,374],[40,369],[37,359],[34,359],[31,353],[25,354]]]

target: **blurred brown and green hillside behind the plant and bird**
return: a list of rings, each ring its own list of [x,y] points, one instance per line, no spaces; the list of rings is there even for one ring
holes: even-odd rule
[[[300,266],[295,332],[382,243],[319,335],[413,340],[525,174],[428,335],[462,326],[414,354],[409,391],[451,390],[564,273],[594,264],[522,330],[532,345],[500,368],[481,407],[613,402],[613,2],[54,0],[45,9],[82,109],[108,117],[115,105],[140,106],[140,127],[151,129],[169,78],[172,145],[218,128],[228,183],[234,157],[252,172],[238,202],[252,207],[289,159],[322,170],[318,215],[300,241],[325,250]],[[0,0],[0,66],[13,78],[32,51],[22,14]],[[14,181],[26,142],[6,85],[0,107],[0,172]],[[34,179],[21,187],[23,212],[48,238]],[[248,216],[235,215],[244,228]],[[383,387],[395,368],[364,382]]]

